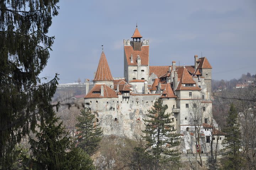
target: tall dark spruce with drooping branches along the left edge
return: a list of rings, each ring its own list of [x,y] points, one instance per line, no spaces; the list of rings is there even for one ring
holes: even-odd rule
[[[59,0],[0,1],[0,169],[15,160],[14,148],[35,128],[51,101],[57,75],[40,83],[38,75],[49,58],[54,37],[48,36]]]

